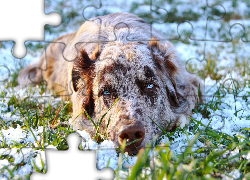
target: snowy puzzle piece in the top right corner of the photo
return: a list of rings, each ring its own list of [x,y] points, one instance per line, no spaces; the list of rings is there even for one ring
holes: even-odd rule
[[[239,1],[239,4],[241,2]],[[245,6],[241,4],[242,8]],[[220,4],[213,4],[206,0],[206,7],[204,6],[201,10],[204,11],[206,16],[197,22],[192,22],[193,33],[190,39],[198,41],[212,41],[212,42],[230,42],[233,41],[231,36],[231,29],[235,25],[241,25],[247,27],[247,22],[237,20],[244,16],[245,12],[239,12],[242,9],[240,5],[236,5],[232,2],[224,1]],[[205,19],[204,19],[205,18]],[[234,20],[236,19],[236,20]],[[245,29],[242,33],[245,32]]]

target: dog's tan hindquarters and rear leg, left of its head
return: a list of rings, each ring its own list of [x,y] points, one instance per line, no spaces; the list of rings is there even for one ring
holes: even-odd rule
[[[51,43],[39,61],[32,62],[21,70],[18,76],[19,85],[44,82],[56,95],[70,95],[68,92],[68,62],[63,57],[63,51],[74,37],[75,33],[66,34]]]

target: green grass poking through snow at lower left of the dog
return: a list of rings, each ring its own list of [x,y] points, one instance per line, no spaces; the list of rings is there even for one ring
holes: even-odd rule
[[[45,162],[41,161],[42,168],[39,169],[32,160],[36,156],[40,155],[39,153],[37,154],[35,150],[44,151],[48,145],[54,145],[58,150],[66,150],[68,149],[66,137],[68,136],[68,134],[74,132],[70,126],[68,126],[66,123],[64,124],[64,122],[67,122],[71,117],[69,114],[71,104],[64,101],[53,102],[53,98],[44,98],[44,101],[47,102],[39,100],[39,97],[32,98],[32,95],[34,95],[34,93],[39,90],[42,94],[43,88],[30,88],[28,89],[28,91],[31,97],[22,99],[18,95],[13,95],[9,99],[3,100],[8,102],[6,103],[6,110],[2,111],[1,113],[10,112],[11,116],[19,115],[20,118],[8,122],[6,121],[6,119],[0,117],[1,130],[7,130],[9,128],[15,129],[17,127],[20,127],[23,132],[31,133],[31,135],[35,139],[35,143],[32,143],[30,141],[26,142],[25,138],[18,142],[13,141],[11,143],[1,141],[0,148],[33,148],[33,151],[29,155],[29,159],[24,159],[20,163],[14,164],[14,167],[11,169],[8,169],[7,167],[0,169],[0,172],[6,172],[4,171],[4,169],[6,169],[11,177],[14,177],[14,172],[18,171],[18,169],[27,164],[32,165],[35,171],[45,173],[47,171],[44,164]],[[50,128],[52,124],[54,127]],[[39,126],[43,127],[43,131],[39,134],[40,139],[37,139],[35,130]],[[2,132],[0,133],[3,137]],[[4,157],[1,155],[1,159],[6,159],[9,162],[13,161],[8,156]],[[30,175],[27,175],[26,178],[29,178],[29,176]]]

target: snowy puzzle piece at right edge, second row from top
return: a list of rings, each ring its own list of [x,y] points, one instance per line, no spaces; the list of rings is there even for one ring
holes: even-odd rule
[[[219,87],[222,87],[223,82],[227,79],[233,79],[234,82],[238,82],[239,84],[246,84],[248,82],[246,74],[249,68],[246,64],[250,62],[247,57],[249,43],[243,40],[245,37],[243,32],[244,27],[241,24],[234,24],[230,28],[230,38],[232,41],[200,41],[204,43],[203,57],[200,56],[201,58],[199,58],[199,56],[197,56],[198,53],[195,52],[194,57],[186,61],[186,69],[190,73],[198,74],[204,79],[207,96],[224,96],[224,90],[222,90],[220,94],[215,94],[215,91]],[[197,42],[200,43],[199,41]],[[197,42],[195,42],[195,44],[197,44]],[[195,44],[192,43],[192,48],[195,47]],[[237,46],[235,44],[237,44]],[[180,49],[183,50],[183,48]],[[185,52],[183,51],[180,54],[185,54]],[[233,68],[238,70],[234,71]],[[222,89],[223,88],[224,87],[222,87]]]

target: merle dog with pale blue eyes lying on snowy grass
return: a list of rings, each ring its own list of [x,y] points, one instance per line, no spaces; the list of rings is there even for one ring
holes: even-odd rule
[[[51,43],[40,61],[20,72],[19,84],[45,81],[73,103],[72,126],[107,134],[129,155],[161,129],[189,123],[201,100],[201,79],[190,74],[174,46],[143,19],[130,13],[92,18],[77,32]],[[198,93],[198,91],[200,93]]]

